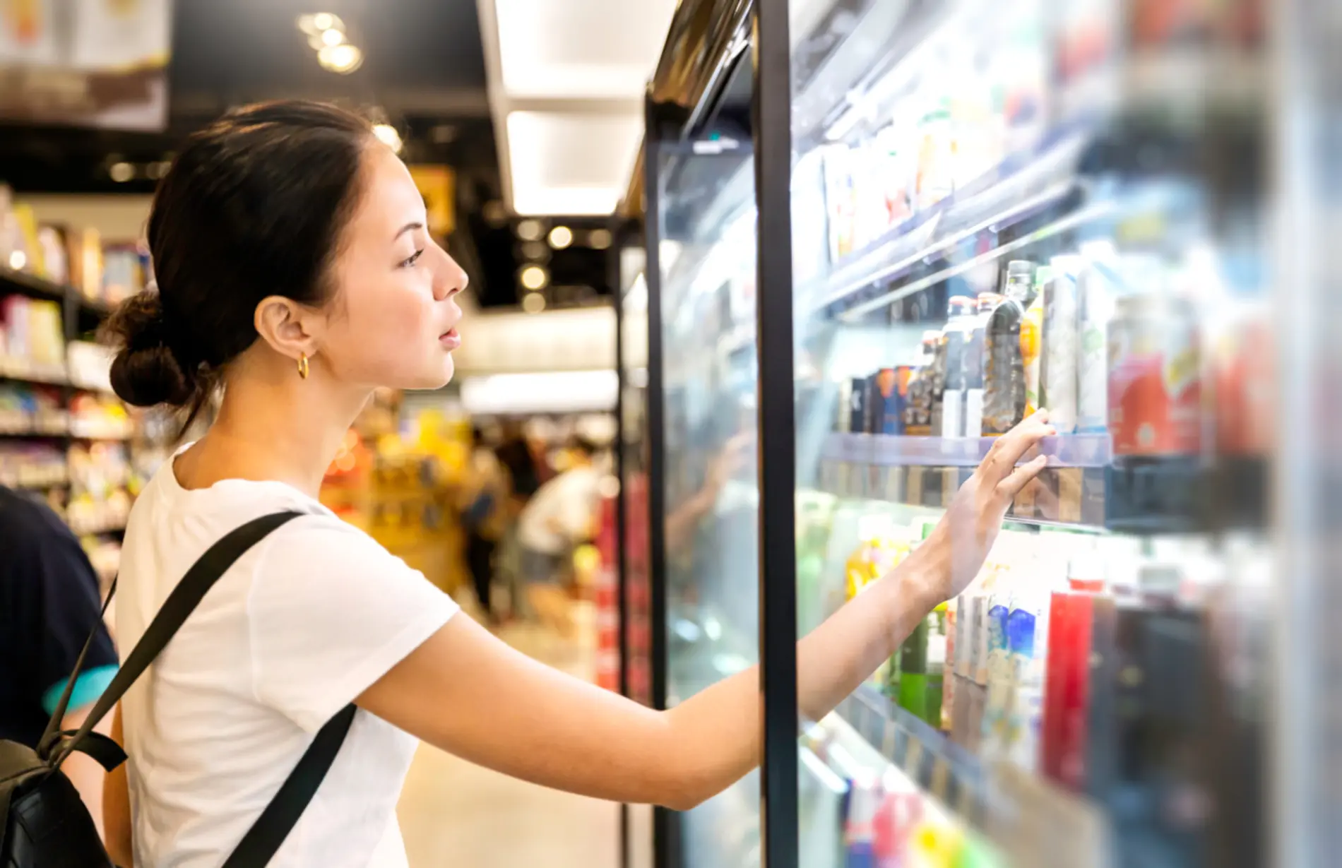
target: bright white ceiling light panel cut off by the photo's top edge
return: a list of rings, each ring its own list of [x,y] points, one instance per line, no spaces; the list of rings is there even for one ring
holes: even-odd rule
[[[494,0],[514,99],[637,99],[676,0]]]

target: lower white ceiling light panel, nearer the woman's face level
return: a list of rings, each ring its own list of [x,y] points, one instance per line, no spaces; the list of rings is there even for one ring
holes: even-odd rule
[[[633,170],[639,114],[513,111],[507,153],[519,215],[608,215]]]

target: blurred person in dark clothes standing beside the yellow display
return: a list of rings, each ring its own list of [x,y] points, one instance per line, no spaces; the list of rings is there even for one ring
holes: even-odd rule
[[[462,530],[466,531],[466,567],[475,585],[475,597],[490,624],[498,624],[494,610],[494,554],[509,526],[510,486],[507,471],[484,441],[478,425],[471,425],[471,455],[463,474],[460,498]]]

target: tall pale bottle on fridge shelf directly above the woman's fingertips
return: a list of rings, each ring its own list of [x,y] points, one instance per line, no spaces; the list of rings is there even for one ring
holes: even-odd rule
[[[1048,424],[1057,433],[1076,431],[1078,279],[1086,268],[1080,256],[1053,256],[1052,278],[1044,286],[1044,364],[1040,400],[1048,408]]]

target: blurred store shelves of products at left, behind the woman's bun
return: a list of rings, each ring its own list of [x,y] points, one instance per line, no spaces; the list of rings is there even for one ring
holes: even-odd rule
[[[0,184],[0,484],[60,514],[105,584],[130,504],[178,433],[111,393],[97,343],[111,307],[150,279],[140,244],[38,221]]]

